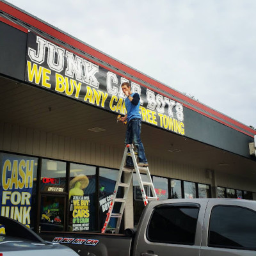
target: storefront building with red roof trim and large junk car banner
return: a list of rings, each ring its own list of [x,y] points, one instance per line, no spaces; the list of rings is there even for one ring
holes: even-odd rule
[[[36,232],[100,232],[124,153],[124,81],[141,96],[160,200],[256,200],[255,129],[5,1],[0,33],[1,216]],[[143,209],[136,177],[128,197],[123,228]]]

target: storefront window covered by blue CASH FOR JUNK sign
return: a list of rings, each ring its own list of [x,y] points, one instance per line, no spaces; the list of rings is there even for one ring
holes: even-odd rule
[[[27,227],[35,227],[38,159],[0,153],[0,209]]]

